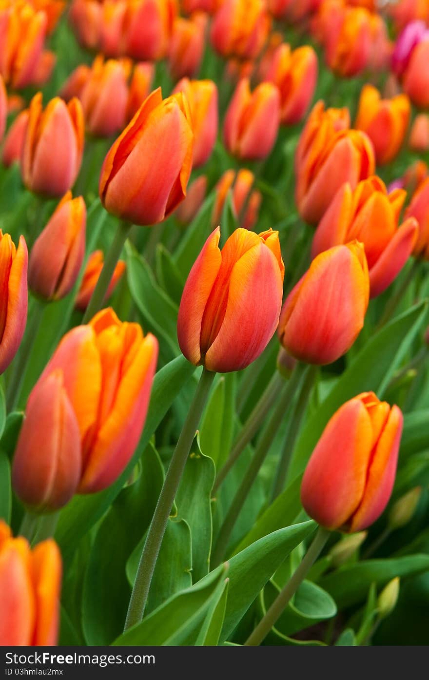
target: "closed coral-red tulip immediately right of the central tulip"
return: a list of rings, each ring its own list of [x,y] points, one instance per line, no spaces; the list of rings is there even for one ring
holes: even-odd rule
[[[358,241],[314,258],[290,292],[279,320],[281,345],[309,364],[331,364],[353,345],[369,300],[368,265]]]

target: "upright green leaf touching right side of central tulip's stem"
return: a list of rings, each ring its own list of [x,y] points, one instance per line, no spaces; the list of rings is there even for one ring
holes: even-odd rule
[[[213,460],[205,456],[195,437],[177,490],[177,517],[190,527],[192,537],[192,581],[196,583],[209,572],[211,550],[210,494],[215,478]]]

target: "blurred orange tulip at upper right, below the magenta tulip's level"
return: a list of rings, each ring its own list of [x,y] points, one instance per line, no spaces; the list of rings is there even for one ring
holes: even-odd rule
[[[410,113],[407,95],[381,99],[373,85],[362,88],[355,126],[366,132],[373,142],[375,160],[379,165],[390,163],[397,156],[405,139]]]

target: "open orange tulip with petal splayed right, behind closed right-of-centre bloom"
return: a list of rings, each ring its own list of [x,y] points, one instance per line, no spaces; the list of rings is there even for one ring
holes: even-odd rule
[[[379,295],[404,267],[417,240],[415,219],[405,220],[398,228],[405,196],[403,189],[388,194],[379,177],[360,182],[354,191],[346,182],[319,222],[311,255],[358,239],[365,247],[371,297]]]

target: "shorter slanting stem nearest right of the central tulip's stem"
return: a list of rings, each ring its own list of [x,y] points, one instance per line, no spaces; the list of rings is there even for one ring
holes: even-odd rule
[[[276,370],[273,377],[271,378],[271,381],[269,381],[267,388],[265,388],[260,400],[256,403],[252,413],[250,413],[249,418],[247,418],[245,424],[243,425],[239,436],[233,444],[233,448],[230,451],[228,460],[220,469],[213,486],[213,493],[218,490],[222,484],[222,481],[224,481],[226,475],[228,475],[228,472],[233,467],[236,460],[238,460],[239,456],[241,456],[247,444],[252,440],[254,435],[256,435],[256,432],[262,425],[262,422],[264,422],[267,414],[273,406],[279,390],[281,390],[283,386],[284,378],[281,377],[279,371]]]

